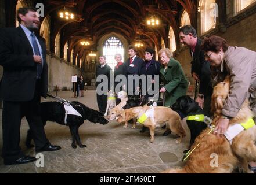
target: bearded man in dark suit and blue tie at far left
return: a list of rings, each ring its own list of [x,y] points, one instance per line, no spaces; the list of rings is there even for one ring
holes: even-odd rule
[[[0,96],[3,99],[2,156],[5,165],[33,162],[19,147],[21,118],[26,116],[35,142],[35,151],[55,151],[46,138],[40,116],[40,97],[48,89],[48,65],[45,40],[35,36],[39,18],[34,8],[20,8],[17,28],[0,29],[0,65],[3,77]]]

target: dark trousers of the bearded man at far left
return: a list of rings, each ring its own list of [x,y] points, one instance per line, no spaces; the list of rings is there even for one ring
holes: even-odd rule
[[[2,155],[5,160],[16,160],[23,157],[20,143],[20,123],[23,116],[26,117],[30,127],[35,149],[49,145],[46,138],[44,125],[41,120],[39,82],[35,87],[34,98],[27,102],[3,101],[2,130],[3,130],[3,150]]]

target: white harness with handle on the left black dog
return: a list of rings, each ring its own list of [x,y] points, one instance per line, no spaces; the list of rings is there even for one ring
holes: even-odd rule
[[[64,123],[67,124],[67,115],[74,115],[74,116],[79,116],[82,117],[82,115],[73,108],[73,106],[79,106],[80,108],[82,108],[82,105],[77,105],[75,103],[72,103],[70,101],[67,101],[66,99],[57,97],[57,96],[53,96],[51,94],[47,94],[48,97],[51,97],[53,99],[56,99],[58,102],[62,103],[64,105],[64,109],[65,109],[65,119],[64,119]],[[82,111],[84,112],[84,109],[82,109]]]

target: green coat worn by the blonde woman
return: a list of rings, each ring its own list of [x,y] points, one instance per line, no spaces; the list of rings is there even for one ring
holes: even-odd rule
[[[164,106],[171,106],[179,97],[186,95],[188,80],[181,68],[181,64],[174,58],[170,59],[165,71],[164,67],[161,67],[160,73],[166,89]]]

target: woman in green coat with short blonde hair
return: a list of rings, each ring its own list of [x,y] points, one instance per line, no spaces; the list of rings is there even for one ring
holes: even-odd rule
[[[172,52],[168,48],[159,51],[161,64],[160,69],[164,87],[160,92],[165,94],[164,106],[172,106],[176,100],[186,95],[188,80],[181,68],[181,64],[172,58]]]

